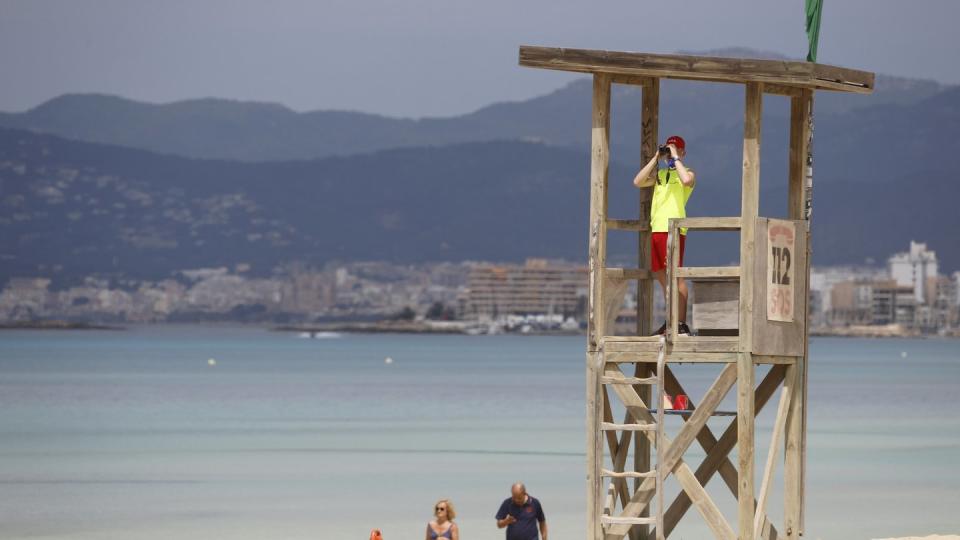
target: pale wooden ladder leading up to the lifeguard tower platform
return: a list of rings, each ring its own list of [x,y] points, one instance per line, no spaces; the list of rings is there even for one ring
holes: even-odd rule
[[[605,362],[603,358],[603,352],[601,351],[601,361]],[[656,479],[656,493],[655,497],[657,500],[657,511],[656,515],[653,517],[649,516],[639,516],[639,517],[623,517],[623,516],[612,516],[610,512],[613,510],[608,505],[604,509],[603,515],[600,516],[600,524],[606,530],[611,525],[654,525],[656,527],[657,539],[663,540],[663,512],[664,512],[664,502],[663,502],[663,481],[669,471],[663,470],[660,466],[663,463],[663,453],[664,453],[664,401],[666,397],[666,391],[664,390],[664,379],[666,371],[666,338],[660,336],[660,349],[657,355],[657,375],[655,377],[601,377],[600,384],[602,385],[613,385],[613,384],[629,384],[633,385],[651,385],[657,387],[657,398],[654,403],[656,407],[654,409],[650,408],[650,404],[647,403],[646,410],[649,415],[652,416],[653,411],[656,411],[656,422],[647,422],[647,423],[636,423],[636,424],[615,424],[612,422],[603,422],[600,424],[601,431],[642,431],[642,432],[654,432],[654,445],[657,448],[657,462],[654,464],[653,468],[648,471],[612,471],[609,469],[600,469],[600,476],[602,478],[655,478]],[[652,400],[651,400],[652,401]],[[613,489],[613,484],[610,484],[610,489]]]

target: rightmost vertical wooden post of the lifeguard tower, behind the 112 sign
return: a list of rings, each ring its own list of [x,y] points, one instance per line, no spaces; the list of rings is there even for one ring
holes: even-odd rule
[[[806,280],[804,290],[810,290],[810,261],[812,259],[810,218],[813,211],[813,90],[803,89],[790,103],[790,196],[788,205],[790,219],[807,221]],[[809,293],[808,293],[809,294]],[[784,464],[785,510],[787,538],[796,538],[803,532],[804,497],[807,467],[807,369],[810,365],[810,309],[807,302],[806,324],[803,331],[803,362],[799,373],[799,391],[794,396],[799,400],[796,414],[801,418],[796,431],[787,431],[787,448],[793,445],[794,455],[787,453]],[[791,409],[793,411],[793,409]],[[791,435],[792,434],[792,435]],[[790,437],[799,440],[791,442]],[[791,524],[793,527],[791,527]],[[792,534],[792,536],[791,536]]]

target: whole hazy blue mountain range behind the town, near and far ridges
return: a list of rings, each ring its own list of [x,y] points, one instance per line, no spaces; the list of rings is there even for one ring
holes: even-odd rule
[[[716,88],[714,88],[716,87]],[[742,87],[664,85],[691,215],[739,213]],[[787,101],[765,100],[761,214],[785,213]],[[522,260],[586,254],[590,84],[454,118],[295,113],[195,100],[63,96],[0,114],[0,281],[160,278],[299,260]],[[815,264],[883,263],[910,240],[960,269],[953,171],[960,89],[880,77],[816,103]],[[636,214],[639,92],[613,97],[611,209]],[[629,264],[635,236],[611,233]],[[736,260],[732,235],[690,238],[691,264]]]

